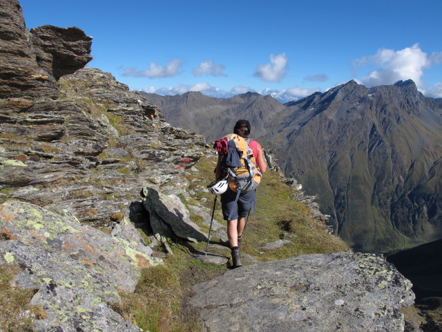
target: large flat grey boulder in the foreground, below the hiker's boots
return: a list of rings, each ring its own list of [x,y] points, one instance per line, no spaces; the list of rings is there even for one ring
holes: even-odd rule
[[[404,331],[411,283],[376,255],[301,255],[195,285],[206,331]]]

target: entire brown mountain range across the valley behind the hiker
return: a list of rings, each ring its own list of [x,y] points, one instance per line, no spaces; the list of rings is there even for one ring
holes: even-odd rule
[[[275,149],[286,176],[317,195],[354,250],[393,252],[442,238],[442,101],[412,80],[372,88],[352,80],[287,104],[258,93],[142,95],[209,143],[249,120],[250,137]]]

